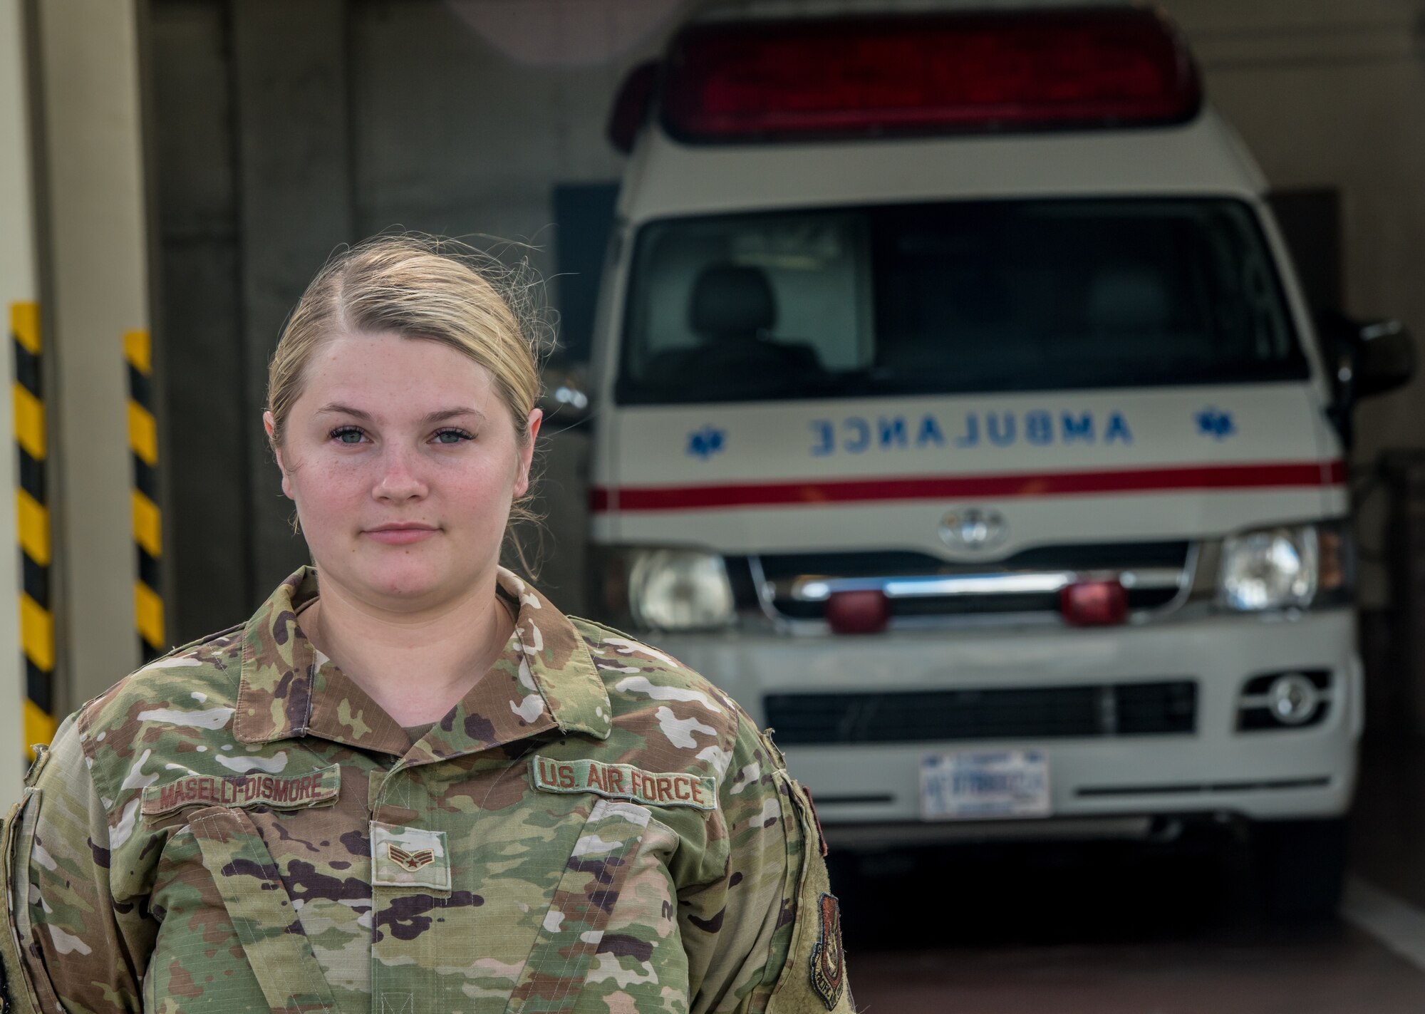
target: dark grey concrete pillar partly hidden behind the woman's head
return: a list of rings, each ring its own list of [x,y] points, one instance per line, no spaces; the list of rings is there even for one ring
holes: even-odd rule
[[[232,4],[242,209],[244,399],[254,578],[271,591],[306,545],[262,440],[266,366],[282,322],[318,268],[356,239],[345,0]],[[254,602],[254,607],[256,602]]]

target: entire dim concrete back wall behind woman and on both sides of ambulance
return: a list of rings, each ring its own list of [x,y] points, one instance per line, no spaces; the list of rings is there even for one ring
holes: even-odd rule
[[[1425,0],[1166,6],[1273,185],[1340,191],[1345,309],[1399,316],[1425,336]],[[614,90],[684,9],[152,0],[171,397],[205,406],[174,412],[174,441],[187,441],[174,456],[225,463],[174,507],[178,584],[241,571],[218,597],[175,602],[181,635],[239,618],[299,558],[255,409],[281,313],[325,252],[389,228],[484,234],[533,244],[532,262],[549,272],[553,188],[617,178],[621,158],[603,137]],[[232,383],[200,394],[182,375],[202,376],[205,363],[232,370]],[[1358,461],[1425,447],[1422,390],[1425,379],[1362,410]],[[177,432],[198,417],[215,420],[207,457],[204,430]],[[566,490],[579,461],[574,441],[550,451]],[[567,560],[577,518],[559,514],[551,528]],[[566,571],[556,555],[549,582],[577,602]],[[1377,601],[1381,587],[1371,581]]]

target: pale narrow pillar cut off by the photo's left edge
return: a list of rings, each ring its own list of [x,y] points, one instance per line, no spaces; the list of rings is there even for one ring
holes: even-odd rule
[[[34,271],[34,188],[30,178],[28,81],[26,80],[24,11],[20,0],[0,0],[0,309],[38,298]],[[11,336],[4,338],[6,396],[14,382]],[[7,470],[0,494],[0,807],[20,798],[21,758],[27,746],[24,729],[26,665],[20,647],[20,554],[17,531],[14,416],[0,412],[0,449]]]

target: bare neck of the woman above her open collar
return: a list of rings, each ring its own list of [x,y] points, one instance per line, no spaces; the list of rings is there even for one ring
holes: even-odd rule
[[[301,625],[399,725],[437,722],[499,659],[514,631],[494,587],[492,573],[459,600],[402,614],[321,584]]]

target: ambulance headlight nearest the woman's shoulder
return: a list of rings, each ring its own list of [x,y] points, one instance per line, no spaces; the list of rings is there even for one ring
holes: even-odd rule
[[[737,618],[727,564],[698,550],[640,550],[628,567],[628,610],[640,627],[698,631]]]

